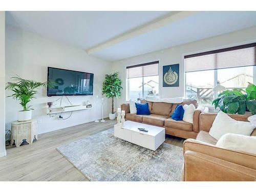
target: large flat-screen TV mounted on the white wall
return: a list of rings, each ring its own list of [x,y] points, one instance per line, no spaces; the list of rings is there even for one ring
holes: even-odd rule
[[[47,96],[56,95],[93,95],[93,73],[71,71],[48,67]]]

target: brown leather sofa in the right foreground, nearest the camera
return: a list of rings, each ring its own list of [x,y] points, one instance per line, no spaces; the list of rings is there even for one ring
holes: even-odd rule
[[[216,113],[201,113],[200,132],[196,139],[183,143],[183,181],[256,181],[256,155],[217,147],[209,135]],[[231,115],[248,121],[246,115]],[[256,136],[256,129],[251,136]]]

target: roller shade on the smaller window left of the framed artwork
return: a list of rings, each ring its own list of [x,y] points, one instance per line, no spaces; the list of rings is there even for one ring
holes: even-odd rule
[[[146,77],[158,75],[159,61],[143,63],[136,66],[126,67],[127,78]]]

